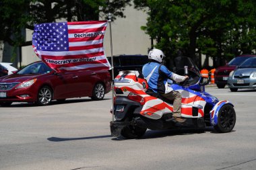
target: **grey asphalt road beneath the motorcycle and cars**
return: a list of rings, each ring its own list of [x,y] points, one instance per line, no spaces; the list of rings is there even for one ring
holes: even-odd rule
[[[148,130],[141,139],[117,140],[110,136],[111,93],[104,101],[13,103],[0,108],[0,169],[255,169],[256,90],[206,91],[234,103],[232,132]]]

